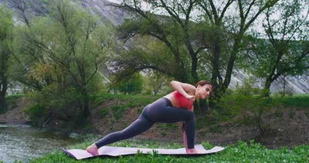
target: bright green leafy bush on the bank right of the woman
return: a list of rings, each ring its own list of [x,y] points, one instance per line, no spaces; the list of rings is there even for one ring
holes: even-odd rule
[[[218,116],[227,119],[234,118],[246,125],[257,126],[260,134],[263,136],[269,123],[263,121],[262,117],[271,107],[280,106],[281,100],[271,97],[254,95],[256,88],[252,88],[252,82],[247,80],[243,86],[236,86],[236,90],[228,96],[225,96],[218,103]]]

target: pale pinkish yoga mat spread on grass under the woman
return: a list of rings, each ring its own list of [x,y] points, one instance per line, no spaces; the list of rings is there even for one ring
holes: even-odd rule
[[[187,154],[186,149],[179,148],[179,149],[152,149],[152,148],[131,148],[131,147],[110,147],[110,146],[103,146],[99,148],[99,156],[119,156],[119,155],[133,155],[137,153],[137,150],[140,151],[140,153],[148,154],[149,152],[152,153],[152,151],[157,151],[158,154],[163,155],[203,155],[203,154],[210,154],[210,153],[216,153],[224,150],[222,147],[213,147],[210,150],[205,150],[203,145],[196,145],[195,149],[198,151],[201,151],[201,154]],[[70,149],[65,150],[62,149],[65,153],[69,154],[71,157],[75,159],[84,159],[84,158],[91,158],[94,157],[90,153],[88,153],[86,150],[82,149]]]

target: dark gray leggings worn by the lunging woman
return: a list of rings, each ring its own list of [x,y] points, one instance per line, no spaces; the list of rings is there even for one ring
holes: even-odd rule
[[[186,122],[186,134],[188,148],[194,148],[195,143],[195,115],[192,111],[172,107],[169,99],[162,97],[144,107],[142,114],[136,121],[122,131],[117,131],[106,135],[96,142],[98,148],[115,143],[120,140],[132,138],[146,130],[154,123],[175,123]]]

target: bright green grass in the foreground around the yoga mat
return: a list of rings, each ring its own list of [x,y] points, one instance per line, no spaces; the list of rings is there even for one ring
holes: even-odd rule
[[[82,143],[70,146],[67,149],[80,148],[85,149],[91,143]],[[202,143],[205,149],[210,149],[213,145],[208,142]],[[138,147],[138,148],[183,148],[182,144],[164,143],[164,142],[144,142],[122,141],[111,144],[111,146],[120,147]],[[308,162],[309,145],[301,145],[293,149],[285,147],[279,149],[266,149],[258,143],[238,141],[236,145],[225,146],[225,150],[212,155],[203,155],[198,157],[175,157],[163,156],[157,153],[135,154],[132,156],[119,156],[115,158],[98,157],[94,159],[75,160],[61,151],[56,151],[43,156],[42,158],[32,159],[30,163],[41,162]]]

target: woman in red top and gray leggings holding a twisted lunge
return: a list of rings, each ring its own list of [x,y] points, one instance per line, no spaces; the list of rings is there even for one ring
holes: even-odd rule
[[[183,141],[186,151],[188,154],[200,153],[194,148],[195,115],[193,113],[193,102],[195,99],[206,99],[212,90],[211,84],[206,80],[201,80],[194,87],[190,84],[172,81],[171,86],[175,90],[174,92],[145,106],[141,115],[130,126],[122,131],[106,135],[106,137],[87,147],[86,151],[97,156],[99,155],[98,148],[132,138],[148,130],[154,123],[184,121],[186,126],[183,130]]]

